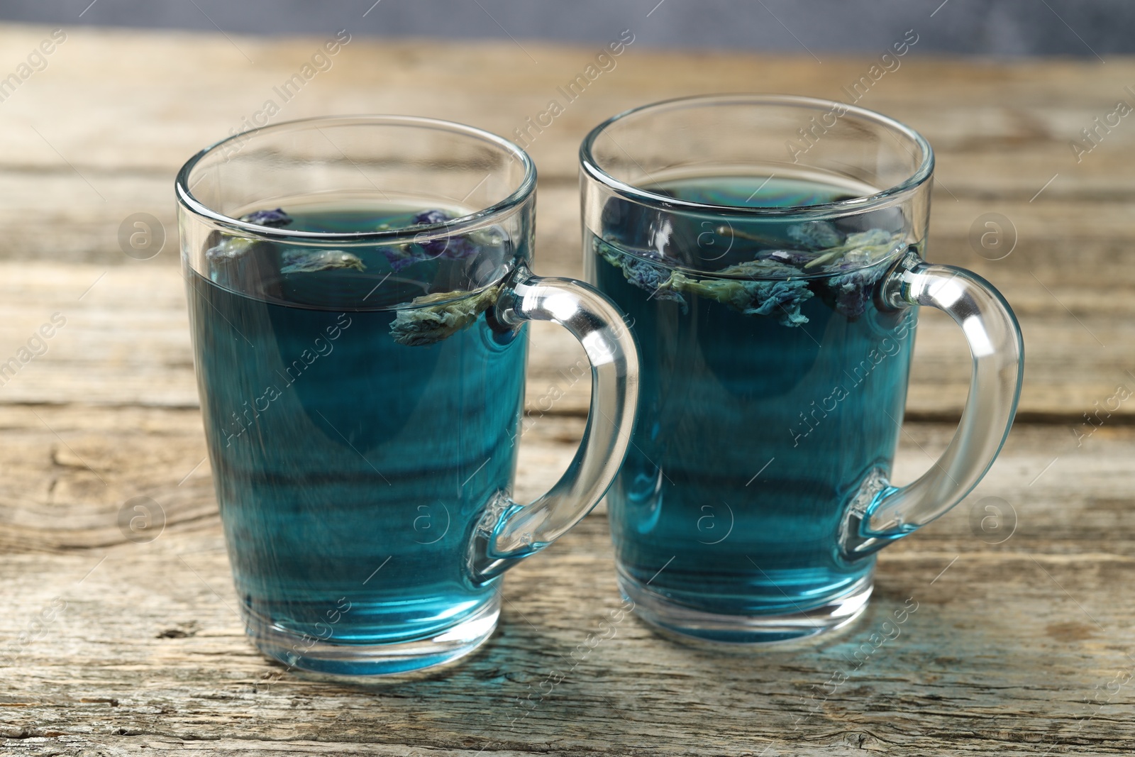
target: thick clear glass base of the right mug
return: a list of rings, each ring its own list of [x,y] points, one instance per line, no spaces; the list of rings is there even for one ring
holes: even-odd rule
[[[718,615],[674,604],[619,571],[619,588],[634,612],[665,636],[680,641],[720,645],[771,645],[799,641],[844,628],[867,608],[871,574],[819,607],[788,615]]]

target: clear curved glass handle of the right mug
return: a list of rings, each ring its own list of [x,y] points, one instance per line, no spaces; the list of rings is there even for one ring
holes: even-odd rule
[[[892,487],[881,469],[860,486],[840,528],[840,546],[849,561],[930,523],[977,486],[1009,436],[1024,373],[1017,319],[981,276],[927,263],[911,250],[884,277],[877,296],[881,310],[917,304],[945,311],[966,335],[974,370],[958,430],[938,462],[905,487]]]

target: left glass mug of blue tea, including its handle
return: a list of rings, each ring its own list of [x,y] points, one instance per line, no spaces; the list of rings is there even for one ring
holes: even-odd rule
[[[289,667],[401,673],[493,633],[501,574],[623,460],[637,352],[586,284],[529,270],[536,169],[424,118],[318,118],[194,155],[176,193],[193,351],[249,636]],[[591,362],[563,478],[511,498],[526,321]]]

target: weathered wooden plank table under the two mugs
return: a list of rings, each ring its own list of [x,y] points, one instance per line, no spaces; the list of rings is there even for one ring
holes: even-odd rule
[[[510,573],[497,636],[444,674],[323,683],[285,674],[245,641],[203,461],[173,175],[260,110],[323,40],[66,33],[47,68],[0,102],[0,362],[18,358],[53,313],[66,319],[47,352],[0,386],[0,751],[1135,750],[1135,399],[1083,426],[1117,387],[1135,390],[1135,120],[1100,131],[1078,162],[1069,144],[1117,101],[1135,102],[1125,90],[1135,61],[910,54],[861,101],[934,144],[930,258],[1001,288],[1028,363],[997,465],[953,512],[883,554],[866,616],[796,651],[745,655],[678,646],[627,619],[540,700],[528,697],[620,602],[602,506]],[[49,34],[0,28],[0,75]],[[356,36],[275,120],[404,112],[508,135],[597,52]],[[575,151],[600,119],[708,91],[842,96],[871,65],[641,44],[616,60],[531,144],[539,272],[580,274]],[[136,212],[159,218],[169,237],[151,260],[119,246],[119,225]],[[1016,246],[1000,260],[969,241],[990,212],[1015,227]],[[557,369],[581,353],[555,329],[537,331],[533,345],[536,398],[564,384]],[[960,335],[927,313],[900,480],[944,447],[968,375]],[[521,497],[554,480],[582,428],[586,389],[561,388],[569,396],[524,437]],[[118,525],[138,496],[165,520],[145,542]],[[983,531],[991,505],[1003,518]],[[901,636],[857,663],[855,650],[908,598],[918,609]],[[833,673],[847,681],[826,684]],[[514,723],[522,700],[530,712]]]

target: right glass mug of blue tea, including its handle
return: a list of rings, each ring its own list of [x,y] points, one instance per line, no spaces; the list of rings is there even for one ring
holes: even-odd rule
[[[1008,304],[922,259],[930,144],[839,102],[722,95],[615,116],[580,160],[587,276],[641,356],[607,495],[621,590],[709,641],[847,624],[875,553],[989,470],[1020,392]],[[896,488],[918,305],[961,326],[973,376],[945,453]]]

